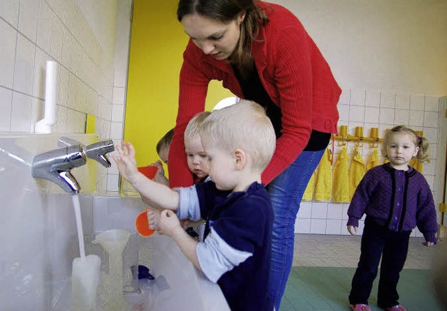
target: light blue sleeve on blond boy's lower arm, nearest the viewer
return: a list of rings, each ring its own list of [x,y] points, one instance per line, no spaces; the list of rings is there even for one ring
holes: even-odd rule
[[[196,255],[203,274],[216,283],[223,273],[232,270],[253,254],[232,248],[211,228],[205,241],[198,243]]]

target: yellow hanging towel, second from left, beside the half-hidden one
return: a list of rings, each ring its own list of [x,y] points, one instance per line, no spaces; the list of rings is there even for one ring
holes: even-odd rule
[[[332,190],[332,153],[330,149],[326,149],[318,165],[318,173],[316,174],[316,185],[314,199],[317,201],[330,200],[330,192]]]

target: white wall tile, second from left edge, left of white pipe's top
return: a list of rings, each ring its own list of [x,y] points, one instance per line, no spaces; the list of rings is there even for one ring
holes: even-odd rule
[[[17,52],[15,54],[13,85],[15,91],[32,95],[35,58],[36,45],[19,33],[17,35]]]

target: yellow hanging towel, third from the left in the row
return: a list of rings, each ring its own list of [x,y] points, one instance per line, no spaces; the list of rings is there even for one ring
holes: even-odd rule
[[[332,175],[332,200],[333,202],[349,202],[349,168],[348,151],[343,147],[335,161]]]

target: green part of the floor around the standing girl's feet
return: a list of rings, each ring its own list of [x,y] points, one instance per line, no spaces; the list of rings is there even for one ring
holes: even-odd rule
[[[350,310],[348,294],[355,268],[293,267],[280,311]],[[377,307],[377,279],[369,306]],[[441,311],[430,284],[430,271],[404,269],[398,285],[400,303],[409,311]]]

